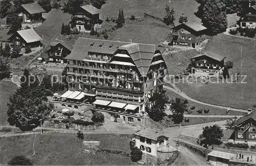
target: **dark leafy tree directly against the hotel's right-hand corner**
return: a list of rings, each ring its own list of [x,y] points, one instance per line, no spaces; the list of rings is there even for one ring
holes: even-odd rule
[[[153,93],[152,97],[148,99],[150,102],[151,108],[146,107],[146,112],[151,119],[158,122],[166,116],[165,109],[166,104],[169,104],[169,98],[164,95],[163,91],[156,91]]]

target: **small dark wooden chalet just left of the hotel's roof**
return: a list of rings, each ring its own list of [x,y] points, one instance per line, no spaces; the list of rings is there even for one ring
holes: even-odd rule
[[[73,45],[67,41],[63,42],[50,42],[51,47],[46,51],[48,54],[48,61],[54,63],[66,63],[66,58],[72,51]]]

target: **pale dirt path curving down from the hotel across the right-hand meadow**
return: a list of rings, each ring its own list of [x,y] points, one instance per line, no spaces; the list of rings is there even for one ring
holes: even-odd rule
[[[205,102],[201,102],[201,101],[198,101],[198,100],[195,100],[195,99],[192,99],[190,97],[188,97],[184,92],[181,92],[180,89],[178,89],[176,86],[173,86],[174,88],[171,88],[171,87],[168,87],[168,86],[163,86],[163,88],[167,89],[167,90],[170,90],[170,91],[173,91],[175,93],[177,93],[178,95],[186,98],[187,100],[190,100],[190,101],[193,101],[193,102],[196,102],[196,103],[199,103],[199,104],[203,104],[203,105],[208,105],[208,106],[213,106],[213,107],[217,107],[217,108],[223,108],[223,109],[230,109],[230,110],[234,110],[234,111],[238,111],[238,112],[243,112],[243,113],[247,113],[248,111],[245,110],[245,109],[238,109],[238,108],[231,108],[231,107],[227,107],[227,106],[220,106],[220,105],[214,105],[214,104],[208,104],[208,103],[205,103]]]

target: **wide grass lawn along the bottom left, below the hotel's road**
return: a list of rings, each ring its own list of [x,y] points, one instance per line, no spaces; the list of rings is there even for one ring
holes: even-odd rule
[[[129,152],[128,134],[84,134],[84,141],[100,141],[100,148]],[[33,154],[34,136],[1,138],[2,163],[6,164],[16,154]],[[82,141],[76,134],[46,133],[35,139],[35,165],[132,165],[130,157],[104,152],[84,152]]]

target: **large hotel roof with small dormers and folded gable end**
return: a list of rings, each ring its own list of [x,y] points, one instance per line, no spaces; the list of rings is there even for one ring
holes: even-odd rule
[[[155,51],[159,50],[154,44],[78,38],[72,52],[65,59],[81,61],[89,57],[88,52],[114,54],[117,49],[129,52],[141,75],[147,74]]]

